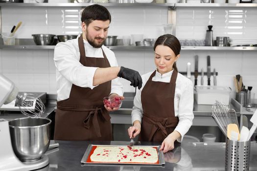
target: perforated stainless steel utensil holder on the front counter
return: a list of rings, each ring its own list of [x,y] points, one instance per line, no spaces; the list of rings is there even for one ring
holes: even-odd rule
[[[226,139],[225,171],[249,171],[251,141]]]

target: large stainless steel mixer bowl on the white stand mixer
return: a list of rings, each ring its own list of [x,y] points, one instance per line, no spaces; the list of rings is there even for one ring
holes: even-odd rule
[[[37,161],[50,143],[50,124],[47,118],[20,118],[9,121],[13,151],[24,162]]]

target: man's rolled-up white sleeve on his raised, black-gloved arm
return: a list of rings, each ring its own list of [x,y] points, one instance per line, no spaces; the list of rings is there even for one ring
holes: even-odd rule
[[[76,51],[68,43],[58,43],[54,49],[54,63],[59,73],[72,84],[93,89],[93,76],[97,67],[83,66]]]

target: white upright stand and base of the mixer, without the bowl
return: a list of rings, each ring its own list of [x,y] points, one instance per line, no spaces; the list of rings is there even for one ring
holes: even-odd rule
[[[0,119],[0,171],[32,171],[48,164],[49,158],[45,154],[36,161],[20,161],[12,148],[8,121]]]

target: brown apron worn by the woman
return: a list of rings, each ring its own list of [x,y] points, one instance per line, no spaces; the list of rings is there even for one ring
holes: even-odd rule
[[[152,73],[141,92],[143,117],[140,141],[164,141],[179,122],[174,111],[178,72],[173,69],[170,83],[152,81],[155,73]]]

